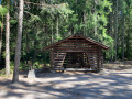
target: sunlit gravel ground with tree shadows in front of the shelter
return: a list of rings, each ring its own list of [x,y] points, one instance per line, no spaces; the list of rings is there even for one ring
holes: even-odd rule
[[[0,99],[132,99],[132,68],[102,73],[43,73],[0,78]]]

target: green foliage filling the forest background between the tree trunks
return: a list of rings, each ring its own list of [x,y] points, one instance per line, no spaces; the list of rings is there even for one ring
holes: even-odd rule
[[[42,64],[50,64],[50,52],[44,47],[63,40],[70,34],[81,33],[110,47],[105,51],[106,57],[114,56],[116,34],[116,1],[117,0],[45,0],[45,6],[24,4],[22,54],[20,69],[29,69],[25,62],[30,61],[35,68]],[[18,2],[18,1],[16,1]],[[42,0],[29,0],[40,3]],[[18,10],[10,4],[11,23],[11,61],[14,59],[15,36],[18,25]],[[122,44],[122,19],[124,22],[124,52],[125,58],[132,58],[132,0],[119,0],[118,12],[118,58],[121,58]],[[0,26],[6,25],[3,21],[8,9],[0,6]],[[111,15],[112,13],[112,15]],[[56,19],[58,19],[58,26]],[[111,22],[112,20],[112,22]],[[58,36],[56,31],[58,29]],[[110,30],[112,32],[110,32]],[[3,32],[6,29],[3,28]],[[2,46],[2,58],[4,63],[4,34]],[[14,64],[11,62],[11,67]]]

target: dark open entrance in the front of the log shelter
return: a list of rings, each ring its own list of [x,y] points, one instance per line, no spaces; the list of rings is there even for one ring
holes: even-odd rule
[[[97,56],[86,52],[67,52],[64,68],[96,69]]]

